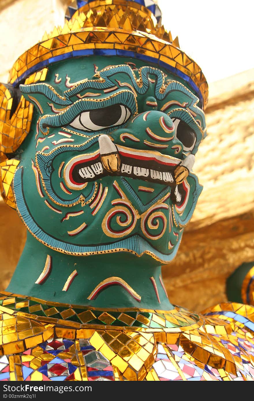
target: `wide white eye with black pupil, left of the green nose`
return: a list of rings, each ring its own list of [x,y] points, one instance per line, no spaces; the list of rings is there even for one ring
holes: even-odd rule
[[[130,117],[131,111],[122,104],[84,111],[75,117],[70,126],[85,131],[100,131],[112,126],[121,126]]]

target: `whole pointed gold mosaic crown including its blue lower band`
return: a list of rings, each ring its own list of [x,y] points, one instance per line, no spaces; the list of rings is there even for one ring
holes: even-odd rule
[[[205,108],[207,81],[200,67],[179,49],[178,38],[161,25],[153,0],[73,1],[63,28],[55,27],[14,63],[9,82],[20,81],[47,65],[77,56],[117,55],[155,63],[193,89]]]

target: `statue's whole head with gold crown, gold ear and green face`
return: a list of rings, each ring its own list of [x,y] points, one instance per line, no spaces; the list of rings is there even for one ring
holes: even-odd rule
[[[207,82],[153,1],[74,3],[0,84],[2,196],[51,249],[167,263],[201,192]]]

